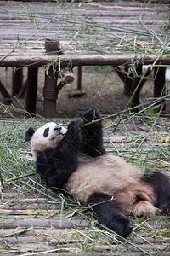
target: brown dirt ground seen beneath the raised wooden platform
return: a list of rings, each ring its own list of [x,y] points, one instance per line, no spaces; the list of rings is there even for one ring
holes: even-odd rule
[[[110,68],[111,70],[111,68]],[[85,95],[81,97],[71,97],[72,91],[77,90],[77,67],[74,69],[75,81],[72,84],[66,84],[60,90],[57,101],[57,118],[72,118],[80,116],[82,110],[95,105],[103,114],[117,113],[123,110],[130,97],[125,96],[124,85],[115,71],[111,72],[108,67],[82,67],[82,90]],[[26,68],[24,69],[24,81],[26,81]],[[12,94],[12,67],[1,67],[1,77],[3,85]],[[37,114],[42,115],[43,99],[42,87],[44,84],[44,68],[39,68],[38,72],[38,91],[37,91]],[[167,84],[168,87],[168,84]],[[167,88],[168,90],[168,88]],[[153,98],[153,80],[148,80],[141,90],[140,101],[147,97],[150,101]],[[4,102],[3,96],[0,94],[0,101]],[[26,95],[23,99],[13,98],[14,107],[24,109],[26,102]],[[170,104],[166,102],[168,115]],[[23,116],[20,110],[12,109],[14,116]],[[0,109],[1,117],[8,116],[6,108]]]

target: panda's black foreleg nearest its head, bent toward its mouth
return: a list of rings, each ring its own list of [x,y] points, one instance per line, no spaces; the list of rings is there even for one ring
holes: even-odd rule
[[[71,173],[77,169],[77,153],[81,145],[79,134],[82,121],[72,122],[59,146],[37,155],[37,171],[45,177],[48,185],[62,188]]]

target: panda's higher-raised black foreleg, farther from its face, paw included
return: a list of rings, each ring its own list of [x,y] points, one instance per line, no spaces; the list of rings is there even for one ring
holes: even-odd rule
[[[85,126],[82,125],[82,152],[90,156],[105,154],[103,142],[102,122],[94,122],[101,119],[101,113],[98,108],[92,107],[83,111],[82,119]],[[88,125],[88,123],[91,123]]]

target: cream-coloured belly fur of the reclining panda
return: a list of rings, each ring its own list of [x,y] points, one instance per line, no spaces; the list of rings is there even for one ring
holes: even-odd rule
[[[71,174],[65,189],[85,203],[94,192],[111,195],[120,201],[120,205],[124,207],[122,209],[124,214],[154,213],[156,212],[156,208],[153,207],[156,201],[154,191],[142,182],[142,175],[141,170],[120,157],[102,155],[92,158],[84,155],[79,158],[77,170]],[[138,196],[142,198],[142,207],[141,203],[137,207]]]

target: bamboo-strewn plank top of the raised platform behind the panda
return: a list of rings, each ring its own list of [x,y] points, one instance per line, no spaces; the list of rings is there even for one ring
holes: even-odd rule
[[[41,56],[46,38],[65,54],[117,54],[160,49],[167,5],[138,1],[90,3],[0,1],[0,58]],[[154,31],[159,38],[150,35]],[[162,40],[162,41],[161,41]],[[141,43],[141,44],[140,44]]]

